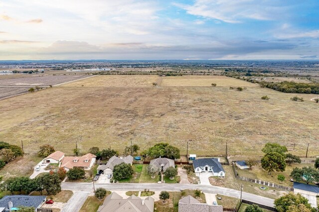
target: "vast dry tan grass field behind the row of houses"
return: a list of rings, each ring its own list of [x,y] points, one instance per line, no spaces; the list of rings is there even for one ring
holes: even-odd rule
[[[293,102],[295,94],[220,76],[207,76],[215,88],[154,87],[157,78],[96,76],[1,100],[0,140],[18,145],[23,140],[27,153],[51,144],[71,154],[75,142],[82,153],[92,146],[121,153],[132,140],[141,151],[169,142],[185,154],[192,139],[189,153],[197,155],[224,154],[226,142],[230,155],[260,156],[267,142],[287,145],[291,151],[296,143],[293,153],[300,156],[310,143],[308,156],[319,155],[319,105],[310,101],[315,95],[298,95],[305,102]],[[178,78],[162,83],[171,79],[178,85],[183,77]],[[242,92],[228,87],[243,83],[247,90]],[[260,99],[265,95],[269,101]]]

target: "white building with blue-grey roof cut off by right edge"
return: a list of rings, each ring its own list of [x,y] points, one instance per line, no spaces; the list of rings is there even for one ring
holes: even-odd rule
[[[312,207],[317,207],[317,196],[319,196],[318,186],[294,182],[294,193],[300,193],[309,200]]]

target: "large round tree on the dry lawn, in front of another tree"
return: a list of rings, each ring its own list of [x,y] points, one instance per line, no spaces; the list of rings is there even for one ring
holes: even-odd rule
[[[265,169],[269,175],[272,172],[283,172],[286,169],[285,157],[278,152],[267,153],[261,159],[261,167]]]

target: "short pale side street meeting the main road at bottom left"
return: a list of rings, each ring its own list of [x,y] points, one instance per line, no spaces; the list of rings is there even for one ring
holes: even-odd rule
[[[65,183],[62,183],[62,185],[63,184],[65,184]],[[77,185],[80,185],[80,184],[81,183],[74,183],[74,187],[77,187]],[[74,188],[73,188],[73,191],[75,191]],[[90,191],[88,191],[88,192],[82,192],[82,191],[73,192],[73,196],[67,202],[67,204],[64,206],[62,212],[78,212],[78,211],[80,211],[81,207],[83,206],[84,202],[88,198],[89,194],[90,194]]]

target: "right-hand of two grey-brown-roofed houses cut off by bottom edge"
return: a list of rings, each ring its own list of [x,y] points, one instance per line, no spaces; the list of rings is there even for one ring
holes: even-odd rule
[[[188,195],[178,201],[178,212],[223,212],[223,207],[200,203]]]

